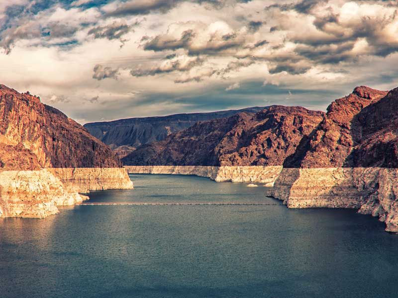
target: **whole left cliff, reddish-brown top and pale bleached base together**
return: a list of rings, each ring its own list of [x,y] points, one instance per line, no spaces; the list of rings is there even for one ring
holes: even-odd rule
[[[132,188],[110,148],[36,96],[0,85],[0,217],[43,218],[78,192]]]

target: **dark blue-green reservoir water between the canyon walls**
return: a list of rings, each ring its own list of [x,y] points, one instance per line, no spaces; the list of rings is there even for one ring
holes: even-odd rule
[[[44,220],[0,219],[1,298],[396,298],[398,235],[343,209],[287,209],[264,188],[131,175],[134,190]]]

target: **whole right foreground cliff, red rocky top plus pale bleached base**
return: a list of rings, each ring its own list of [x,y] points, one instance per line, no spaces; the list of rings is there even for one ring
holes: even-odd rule
[[[357,208],[398,232],[398,94],[357,87],[287,158],[272,194],[290,208]]]

